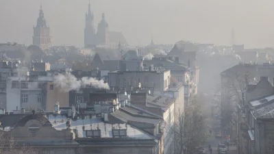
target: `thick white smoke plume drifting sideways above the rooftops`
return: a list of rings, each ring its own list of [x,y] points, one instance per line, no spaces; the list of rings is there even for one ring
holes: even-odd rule
[[[66,73],[66,75],[58,74],[54,79],[54,83],[65,92],[79,90],[81,87],[86,86],[98,89],[110,89],[108,83],[104,83],[103,80],[97,80],[93,77],[82,77],[82,79],[77,79],[71,73]]]

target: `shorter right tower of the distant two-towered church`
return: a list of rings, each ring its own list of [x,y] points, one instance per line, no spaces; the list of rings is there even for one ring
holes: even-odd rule
[[[109,42],[109,32],[108,23],[105,21],[105,14],[102,14],[102,20],[98,24],[97,34],[96,34],[97,44],[108,44]]]

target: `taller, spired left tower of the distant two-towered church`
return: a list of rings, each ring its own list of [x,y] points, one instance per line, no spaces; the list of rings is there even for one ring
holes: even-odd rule
[[[84,47],[92,47],[96,44],[93,19],[94,15],[90,10],[90,3],[88,3],[88,12],[86,13],[86,26],[84,29]]]

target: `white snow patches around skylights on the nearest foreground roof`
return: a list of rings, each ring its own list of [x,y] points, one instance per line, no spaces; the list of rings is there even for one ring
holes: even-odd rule
[[[144,133],[130,125],[124,124],[109,124],[104,123],[102,118],[85,118],[71,120],[71,129],[77,129],[77,134],[79,138],[87,138],[86,130],[101,130],[101,138],[113,138],[112,128],[114,129],[126,129],[127,138],[136,138],[136,139],[152,139],[147,133]],[[66,129],[66,116],[49,116],[49,121],[53,127],[57,130]],[[84,130],[83,130],[84,126]]]

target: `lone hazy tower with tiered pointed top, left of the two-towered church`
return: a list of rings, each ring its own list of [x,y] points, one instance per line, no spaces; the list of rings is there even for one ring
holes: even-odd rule
[[[49,49],[49,47],[51,47],[51,37],[49,36],[49,27],[47,27],[47,21],[44,17],[42,5],[40,6],[37,25],[36,27],[34,27],[34,36],[32,37],[32,44],[40,47],[42,50]]]

